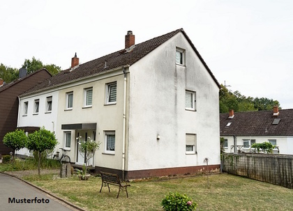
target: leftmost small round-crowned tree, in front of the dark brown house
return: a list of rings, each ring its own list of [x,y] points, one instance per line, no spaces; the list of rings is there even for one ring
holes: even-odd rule
[[[13,155],[15,155],[15,150],[20,150],[21,148],[24,148],[26,146],[27,135],[24,133],[24,130],[15,130],[14,132],[8,132],[3,137],[3,143],[9,148],[12,148]]]

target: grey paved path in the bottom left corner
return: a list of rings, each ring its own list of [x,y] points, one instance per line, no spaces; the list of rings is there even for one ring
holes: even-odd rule
[[[70,211],[75,209],[22,180],[0,173],[0,210]]]

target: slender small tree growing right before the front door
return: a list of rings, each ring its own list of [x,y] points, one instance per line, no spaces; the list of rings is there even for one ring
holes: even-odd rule
[[[81,137],[80,137],[81,138]],[[87,178],[89,177],[89,174],[87,174],[87,166],[89,166],[89,159],[95,155],[96,150],[100,148],[100,142],[99,141],[93,141],[90,137],[87,137],[89,139],[88,141],[80,142],[80,151],[82,152],[83,157],[86,160],[85,165],[82,167],[82,170],[77,171],[79,175],[81,175],[81,178]]]

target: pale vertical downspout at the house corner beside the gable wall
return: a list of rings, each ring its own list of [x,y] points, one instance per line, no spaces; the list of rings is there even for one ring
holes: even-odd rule
[[[123,67],[124,88],[123,88],[123,137],[122,137],[122,181],[125,181],[125,136],[126,136],[126,68]]]

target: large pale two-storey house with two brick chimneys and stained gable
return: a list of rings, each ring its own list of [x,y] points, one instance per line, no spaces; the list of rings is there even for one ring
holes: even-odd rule
[[[128,31],[125,49],[83,64],[75,54],[70,69],[20,95],[18,126],[54,131],[74,164],[84,164],[81,141],[100,141],[91,164],[123,179],[197,173],[206,157],[215,170],[219,88],[183,29],[137,45]]]

